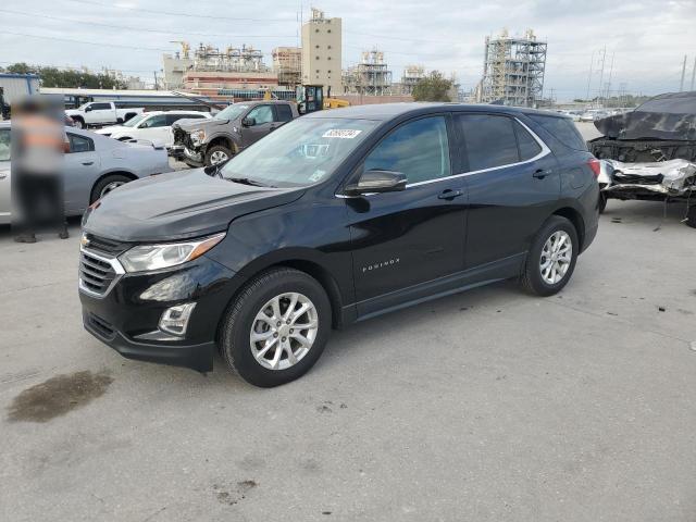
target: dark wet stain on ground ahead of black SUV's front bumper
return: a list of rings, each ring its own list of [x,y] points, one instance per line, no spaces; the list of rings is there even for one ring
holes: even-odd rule
[[[8,420],[48,422],[101,397],[112,382],[104,372],[57,375],[17,395],[8,408]]]

